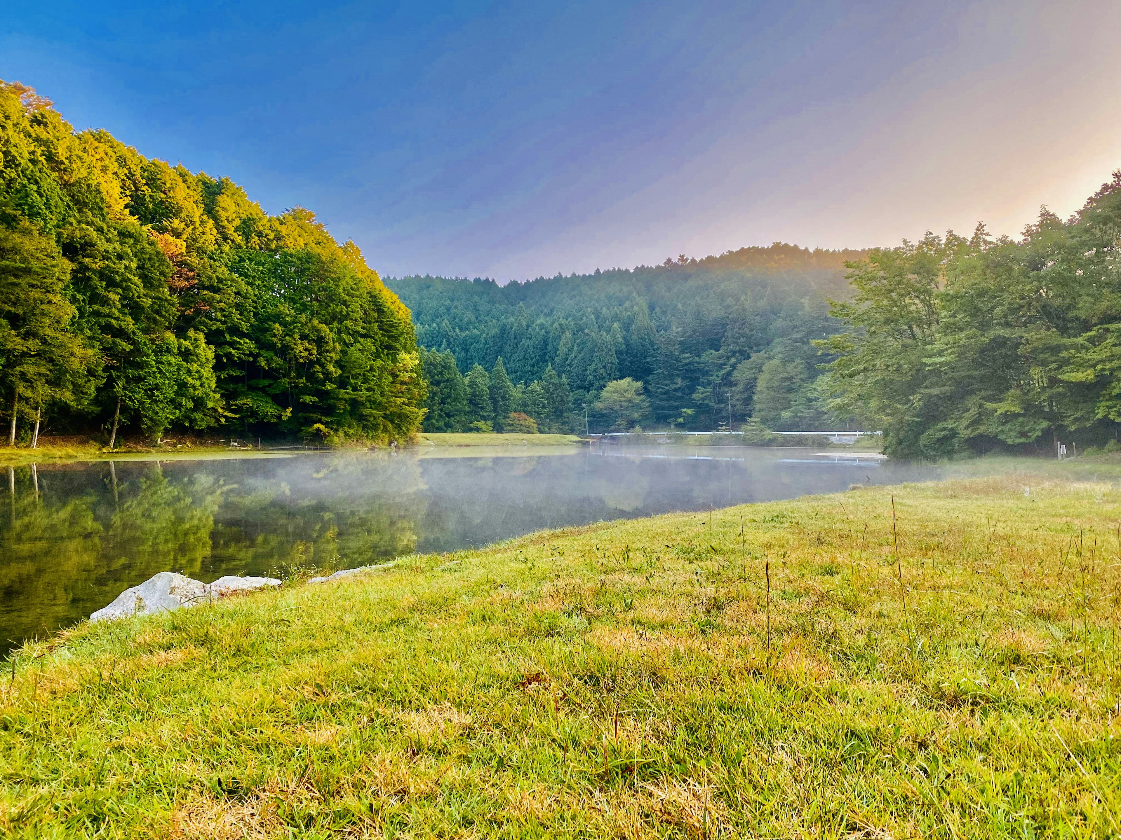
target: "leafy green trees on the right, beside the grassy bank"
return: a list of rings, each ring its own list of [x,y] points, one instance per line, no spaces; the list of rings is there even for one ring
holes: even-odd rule
[[[939,458],[1055,444],[1117,449],[1121,423],[1121,171],[1065,222],[1020,240],[979,225],[854,262],[830,407],[884,432],[884,451]],[[1073,454],[1073,450],[1072,450]]]

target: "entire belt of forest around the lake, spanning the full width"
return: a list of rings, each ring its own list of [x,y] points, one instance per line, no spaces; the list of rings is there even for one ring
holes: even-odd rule
[[[0,82],[8,442],[169,430],[882,430],[944,458],[1118,448],[1121,172],[1021,236],[785,243],[660,265],[382,282],[315,215],[75,131]]]

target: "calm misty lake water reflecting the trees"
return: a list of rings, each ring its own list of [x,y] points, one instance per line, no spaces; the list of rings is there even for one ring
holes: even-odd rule
[[[346,568],[536,531],[934,477],[869,456],[508,447],[0,469],[0,655],[158,571]]]

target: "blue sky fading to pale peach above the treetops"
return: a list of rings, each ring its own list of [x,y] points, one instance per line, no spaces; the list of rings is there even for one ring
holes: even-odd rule
[[[0,78],[387,277],[1018,234],[1121,168],[1117,0],[6,0]]]

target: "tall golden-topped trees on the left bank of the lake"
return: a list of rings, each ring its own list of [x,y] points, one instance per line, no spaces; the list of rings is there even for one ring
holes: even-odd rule
[[[41,429],[411,435],[409,312],[303,208],[75,132],[0,82],[0,404]]]

